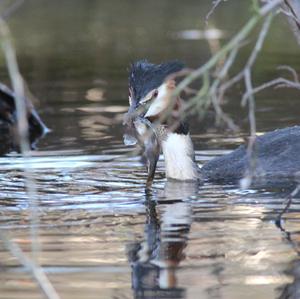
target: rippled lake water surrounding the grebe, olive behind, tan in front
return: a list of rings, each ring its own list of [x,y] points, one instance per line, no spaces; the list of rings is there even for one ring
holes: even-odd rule
[[[10,19],[22,73],[53,131],[29,162],[15,153],[0,158],[0,227],[30,255],[22,169],[31,167],[37,259],[61,298],[299,298],[299,202],[282,227],[274,221],[289,189],[166,182],[160,159],[153,190],[145,192],[139,156],[123,145],[129,63],[203,63],[207,41],[182,38],[185,30],[204,29],[209,7],[194,0],[29,0]],[[247,14],[244,1],[217,10],[211,24],[224,32],[221,43]],[[276,77],[278,64],[299,69],[298,51],[279,18],[254,69],[255,84]],[[3,60],[0,72],[7,81]],[[192,120],[200,165],[243,142],[240,94],[238,88],[226,106],[240,134]],[[297,124],[298,96],[272,89],[258,95],[258,131]],[[42,298],[30,274],[0,248],[0,298]]]

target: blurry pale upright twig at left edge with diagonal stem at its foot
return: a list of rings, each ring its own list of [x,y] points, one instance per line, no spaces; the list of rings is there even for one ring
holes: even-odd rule
[[[14,7],[12,7],[14,9]],[[30,162],[30,143],[28,139],[28,121],[27,121],[27,107],[24,92],[24,81],[20,74],[15,49],[11,41],[11,34],[9,28],[3,18],[0,17],[0,42],[2,50],[5,56],[6,65],[9,73],[9,77],[12,83],[13,91],[15,93],[15,105],[17,114],[17,129],[19,134],[19,144],[21,153],[24,159],[29,159]],[[27,167],[27,168],[26,168]],[[30,163],[24,167],[24,181],[30,204],[31,213],[31,247],[32,257],[29,258],[22,249],[9,239],[6,232],[0,230],[0,238],[7,248],[7,250],[18,259],[18,261],[29,271],[35,281],[38,283],[40,289],[43,291],[46,298],[58,299],[59,296],[56,293],[54,287],[48,280],[44,270],[37,264],[37,255],[39,253],[38,243],[38,197],[37,187],[33,179],[33,173]]]

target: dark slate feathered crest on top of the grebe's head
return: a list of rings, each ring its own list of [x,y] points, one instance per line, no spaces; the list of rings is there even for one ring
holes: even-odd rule
[[[176,60],[161,64],[153,64],[147,60],[133,63],[129,74],[129,88],[133,101],[138,103],[147,93],[158,88],[169,75],[183,68],[184,64]]]

